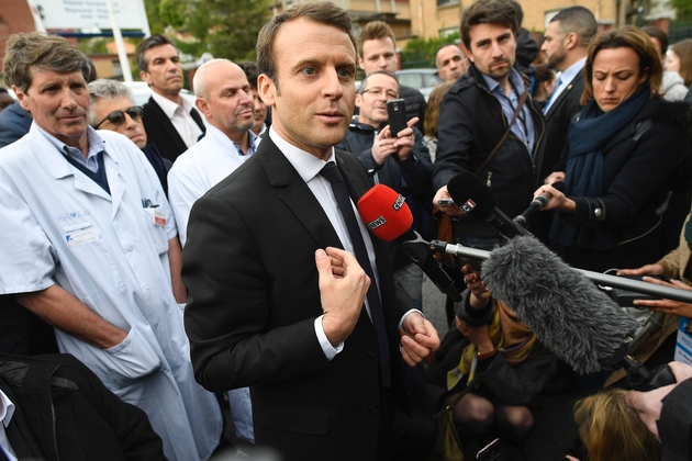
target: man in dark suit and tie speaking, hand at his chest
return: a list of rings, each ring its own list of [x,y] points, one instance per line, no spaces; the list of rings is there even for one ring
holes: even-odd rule
[[[348,14],[328,2],[265,25],[258,90],[271,128],[188,226],[197,380],[249,386],[256,443],[287,461],[388,459],[393,403],[406,401],[402,357],[413,366],[439,345],[395,290],[382,241],[349,214],[370,187],[358,159],[333,148],[353,113],[355,43]]]

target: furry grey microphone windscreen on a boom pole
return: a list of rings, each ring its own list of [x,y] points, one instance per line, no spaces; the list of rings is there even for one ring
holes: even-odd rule
[[[534,237],[491,251],[482,280],[538,340],[579,373],[614,363],[638,322]],[[616,362],[616,361],[615,361]]]

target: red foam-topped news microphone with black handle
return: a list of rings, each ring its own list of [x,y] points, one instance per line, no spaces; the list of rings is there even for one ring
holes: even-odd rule
[[[377,184],[358,201],[358,213],[368,229],[384,241],[397,240],[440,292],[456,302],[461,294],[435,259],[431,245],[411,228],[413,215],[405,199],[384,184]]]

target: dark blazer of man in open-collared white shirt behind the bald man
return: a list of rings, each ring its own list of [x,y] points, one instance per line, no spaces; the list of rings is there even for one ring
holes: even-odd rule
[[[168,115],[164,112],[160,105],[154,101],[154,98],[149,98],[149,101],[143,105],[144,109],[144,130],[146,131],[146,137],[149,143],[154,143],[161,154],[161,157],[176,161],[176,158],[188,149],[178,131],[172,125]],[[197,109],[192,109],[190,112],[192,119],[202,133],[207,131],[202,117],[197,112]]]

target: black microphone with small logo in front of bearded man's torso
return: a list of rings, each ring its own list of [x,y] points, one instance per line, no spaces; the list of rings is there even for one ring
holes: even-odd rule
[[[462,170],[455,175],[447,183],[447,192],[465,213],[485,220],[503,237],[531,235],[528,231],[517,226],[498,207],[495,194],[472,172]]]

